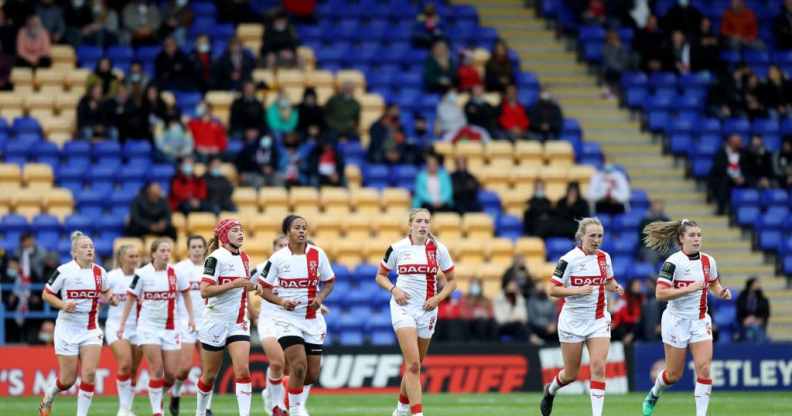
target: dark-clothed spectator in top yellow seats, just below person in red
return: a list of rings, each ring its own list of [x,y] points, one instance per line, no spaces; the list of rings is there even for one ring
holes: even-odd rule
[[[267,68],[294,68],[297,66],[297,47],[300,39],[284,11],[278,11],[266,25],[261,41],[261,58]]]

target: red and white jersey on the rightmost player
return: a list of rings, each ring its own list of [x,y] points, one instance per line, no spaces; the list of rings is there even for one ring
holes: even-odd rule
[[[707,316],[707,292],[709,284],[718,280],[718,267],[709,254],[697,253],[688,256],[681,250],[672,254],[663,263],[657,284],[665,287],[685,287],[704,282],[700,292],[688,293],[668,301],[667,311],[685,319],[704,319]]]

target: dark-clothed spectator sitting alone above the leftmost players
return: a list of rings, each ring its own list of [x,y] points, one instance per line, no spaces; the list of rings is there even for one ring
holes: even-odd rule
[[[146,183],[132,201],[124,234],[130,237],[167,236],[176,240],[170,206],[157,182]]]

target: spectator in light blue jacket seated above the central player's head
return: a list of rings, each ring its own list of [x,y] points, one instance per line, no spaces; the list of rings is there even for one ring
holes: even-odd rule
[[[440,166],[437,155],[426,155],[426,166],[415,178],[413,208],[431,212],[453,211],[454,187],[448,172]]]

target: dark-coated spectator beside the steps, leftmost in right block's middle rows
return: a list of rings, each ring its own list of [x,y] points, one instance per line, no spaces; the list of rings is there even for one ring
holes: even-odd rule
[[[723,148],[715,154],[709,174],[709,195],[718,204],[718,215],[726,213],[731,190],[745,184],[745,150],[742,137],[732,133]]]

